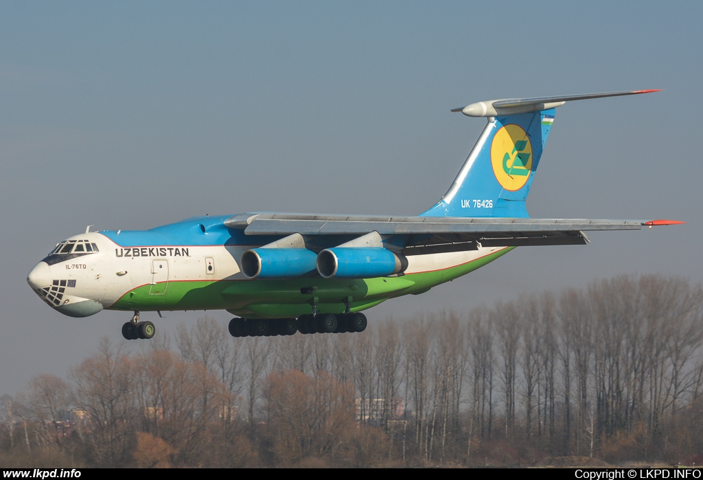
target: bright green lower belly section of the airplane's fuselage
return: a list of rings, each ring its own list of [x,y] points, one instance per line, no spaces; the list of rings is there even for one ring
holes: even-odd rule
[[[150,295],[150,285],[141,286],[122,295],[109,309],[227,310],[247,318],[280,318],[311,313],[313,298],[318,312],[343,313],[344,300],[352,297],[352,312],[360,312],[389,298],[423,293],[483,267],[512,248],[443,270],[374,279],[169,281],[161,295]]]

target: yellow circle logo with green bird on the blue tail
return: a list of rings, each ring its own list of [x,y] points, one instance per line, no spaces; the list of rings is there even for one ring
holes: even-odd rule
[[[491,164],[501,187],[510,192],[524,187],[532,170],[532,144],[521,126],[509,124],[496,132]]]

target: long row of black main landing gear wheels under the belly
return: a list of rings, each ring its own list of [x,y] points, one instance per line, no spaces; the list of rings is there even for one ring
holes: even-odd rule
[[[295,335],[296,332],[309,333],[356,333],[366,330],[366,315],[317,314],[301,315],[298,319],[240,319],[229,322],[229,333],[233,337],[273,337]]]

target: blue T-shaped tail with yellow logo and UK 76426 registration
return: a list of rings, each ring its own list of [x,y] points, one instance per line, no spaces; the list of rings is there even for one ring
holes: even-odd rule
[[[555,116],[572,100],[635,95],[637,90],[477,102],[452,112],[489,121],[449,190],[420,215],[527,218],[525,201]]]

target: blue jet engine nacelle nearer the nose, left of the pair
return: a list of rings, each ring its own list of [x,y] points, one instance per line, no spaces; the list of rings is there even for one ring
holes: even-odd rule
[[[307,248],[253,248],[242,255],[247,279],[290,279],[312,272],[317,255]]]

